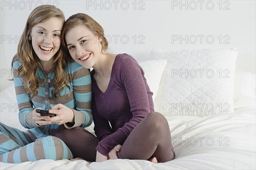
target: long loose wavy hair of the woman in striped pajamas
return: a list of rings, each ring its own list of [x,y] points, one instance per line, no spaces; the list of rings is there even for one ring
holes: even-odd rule
[[[60,9],[56,8],[55,6],[38,6],[31,12],[27,19],[23,34],[20,38],[17,54],[14,56],[12,60],[13,70],[14,61],[19,61],[21,63],[21,66],[18,68],[15,74],[17,77],[23,78],[24,87],[26,89],[27,94],[31,95],[31,98],[38,94],[39,86],[42,85],[39,84],[39,78],[36,75],[36,70],[38,68],[41,70],[44,69],[40,63],[40,59],[35,54],[35,51],[32,47],[30,33],[32,31],[33,26],[37,25],[38,23],[44,22],[45,20],[48,20],[51,17],[60,18],[63,24],[65,22],[63,12]],[[64,55],[63,49],[60,47],[60,49],[58,50],[58,52],[56,52],[54,56],[53,67],[51,70],[51,72],[55,74],[55,84],[54,89],[52,90],[52,95],[61,96],[60,93],[65,86],[68,89],[70,89],[70,86],[67,85],[68,78],[65,74],[65,68],[67,66],[67,63],[71,61],[72,60],[69,57],[67,57],[67,55]]]

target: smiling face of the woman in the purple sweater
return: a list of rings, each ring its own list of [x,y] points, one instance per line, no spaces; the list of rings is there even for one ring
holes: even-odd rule
[[[79,25],[70,29],[64,38],[71,57],[77,63],[87,69],[97,63],[102,49],[101,37],[93,35],[86,26]]]

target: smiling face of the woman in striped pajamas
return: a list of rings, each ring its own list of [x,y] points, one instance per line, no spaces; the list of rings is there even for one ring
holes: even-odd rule
[[[35,54],[46,65],[54,60],[53,56],[58,52],[61,40],[61,29],[63,23],[58,17],[51,17],[48,20],[33,26],[30,36]]]

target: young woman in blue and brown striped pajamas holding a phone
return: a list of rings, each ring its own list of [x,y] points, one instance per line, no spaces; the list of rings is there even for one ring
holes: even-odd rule
[[[20,124],[28,130],[0,123],[2,162],[73,158],[55,137],[58,126],[87,127],[93,121],[90,71],[60,48],[64,22],[63,12],[49,5],[38,6],[27,19],[12,69]],[[41,115],[36,109],[56,116]]]

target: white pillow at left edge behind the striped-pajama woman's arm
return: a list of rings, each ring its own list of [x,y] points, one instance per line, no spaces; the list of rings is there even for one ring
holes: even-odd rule
[[[21,126],[19,121],[19,109],[14,83],[0,93],[0,103],[0,122],[8,125],[9,127],[15,127],[19,130],[26,130],[23,126]]]

